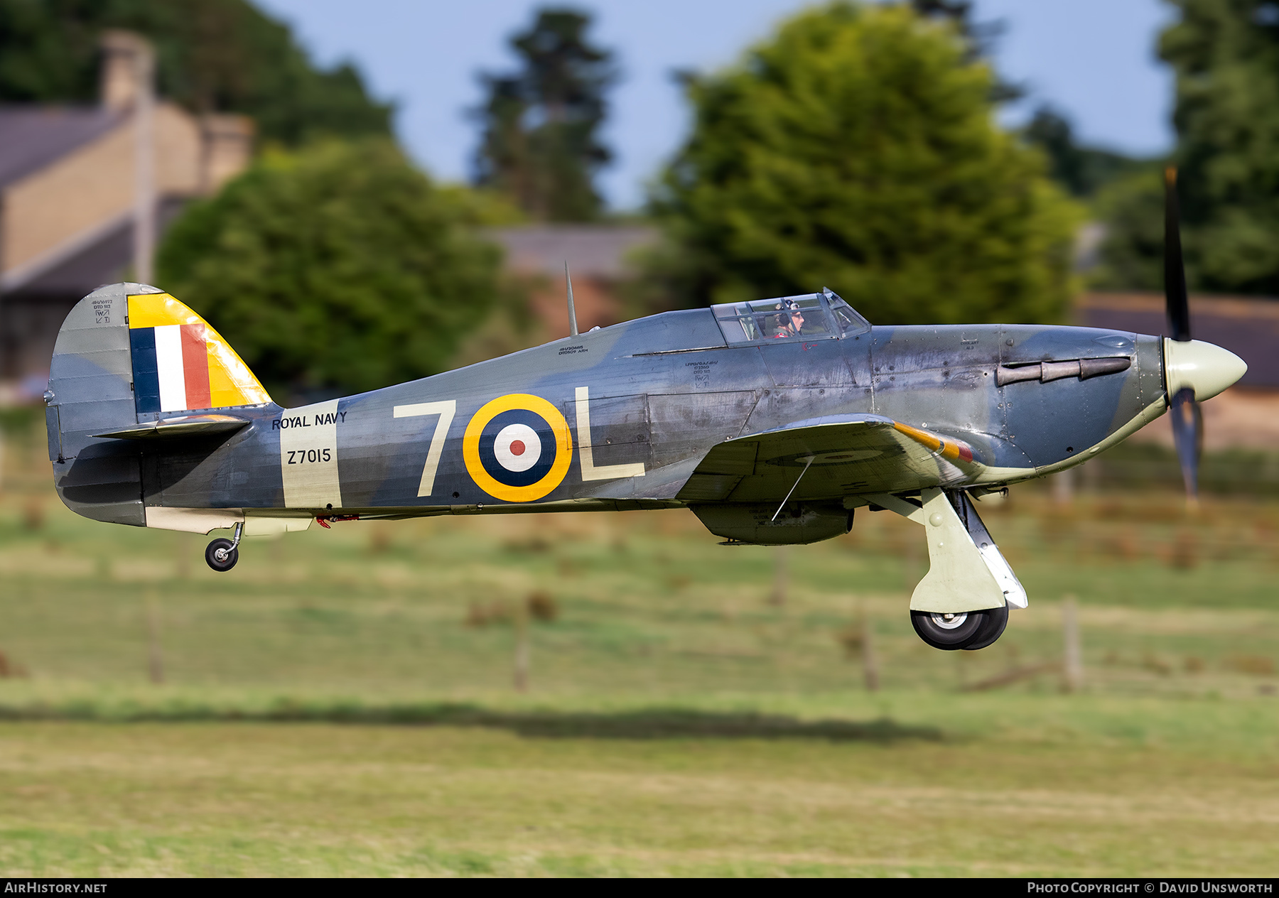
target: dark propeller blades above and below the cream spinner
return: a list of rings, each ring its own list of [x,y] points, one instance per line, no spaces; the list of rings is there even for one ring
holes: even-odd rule
[[[1191,307],[1186,290],[1186,265],[1182,261],[1181,210],[1177,205],[1177,169],[1164,169],[1164,299],[1172,339],[1191,342]],[[1193,386],[1182,386],[1169,397],[1173,441],[1182,464],[1186,498],[1198,499],[1198,462],[1204,452],[1204,414]]]

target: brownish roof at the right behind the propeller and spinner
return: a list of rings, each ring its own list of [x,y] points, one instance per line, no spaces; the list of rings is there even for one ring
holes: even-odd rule
[[[1076,303],[1078,324],[1137,334],[1168,334],[1157,293],[1090,293]],[[1253,297],[1191,297],[1191,334],[1224,347],[1248,363],[1239,386],[1279,389],[1279,301]]]

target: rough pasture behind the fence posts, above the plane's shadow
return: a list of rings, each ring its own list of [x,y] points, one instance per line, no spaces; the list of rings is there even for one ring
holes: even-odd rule
[[[1161,558],[1179,537],[1159,519],[1115,519],[1113,509],[1062,519],[1046,503],[989,514],[1033,604],[990,650],[952,655],[911,629],[906,587],[911,571],[922,573],[922,546],[912,560],[918,533],[885,513],[863,514],[849,537],[793,549],[776,606],[774,553],[719,546],[682,512],[335,524],[246,541],[239,565],[217,574],[198,537],[96,524],[47,501],[31,531],[13,505],[0,507],[0,650],[40,679],[145,681],[150,603],[173,683],[490,695],[510,682],[514,633],[468,626],[468,609],[544,590],[559,611],[532,636],[533,684],[547,696],[842,691],[861,674],[839,637],[863,614],[886,688],[952,689],[1058,656],[1067,594],[1083,609],[1097,688],[1255,695],[1274,683],[1241,669],[1275,655],[1269,540],[1212,542],[1239,509],[1198,526],[1205,556],[1177,562],[1193,567]]]

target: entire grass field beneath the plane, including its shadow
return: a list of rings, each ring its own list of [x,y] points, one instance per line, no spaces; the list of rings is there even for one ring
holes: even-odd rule
[[[63,509],[41,450],[10,439],[0,494],[0,875],[1279,866],[1279,503],[1014,490],[984,514],[1031,608],[952,654],[886,513],[790,550],[780,604],[776,553],[682,512],[339,523],[215,574]]]

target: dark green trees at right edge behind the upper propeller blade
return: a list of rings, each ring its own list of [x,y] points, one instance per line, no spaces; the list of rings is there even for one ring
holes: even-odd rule
[[[1279,4],[1172,0],[1159,55],[1177,77],[1178,193],[1192,288],[1279,294]],[[1161,285],[1159,175],[1124,184],[1106,210],[1101,283]],[[1147,223],[1143,216],[1155,214]]]

